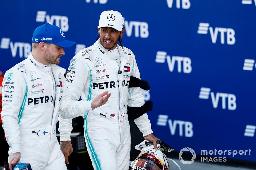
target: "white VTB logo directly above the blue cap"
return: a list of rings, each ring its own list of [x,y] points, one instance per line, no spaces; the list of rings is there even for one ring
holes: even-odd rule
[[[62,31],[67,32],[69,29],[68,17],[60,15],[46,15],[46,11],[37,11],[36,22],[48,22],[49,24],[54,23],[55,25],[61,28]]]

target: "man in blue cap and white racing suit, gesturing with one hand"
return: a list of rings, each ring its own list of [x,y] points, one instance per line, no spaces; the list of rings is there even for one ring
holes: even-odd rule
[[[65,170],[55,129],[60,101],[69,100],[69,96],[66,70],[56,64],[65,54],[63,47],[75,42],[66,40],[62,30],[49,23],[35,29],[32,42],[28,58],[9,69],[3,80],[1,118],[10,146],[9,169],[21,162],[30,163],[33,170]],[[106,99],[101,100],[105,103]],[[95,107],[89,104],[69,100],[67,108],[85,112]]]

